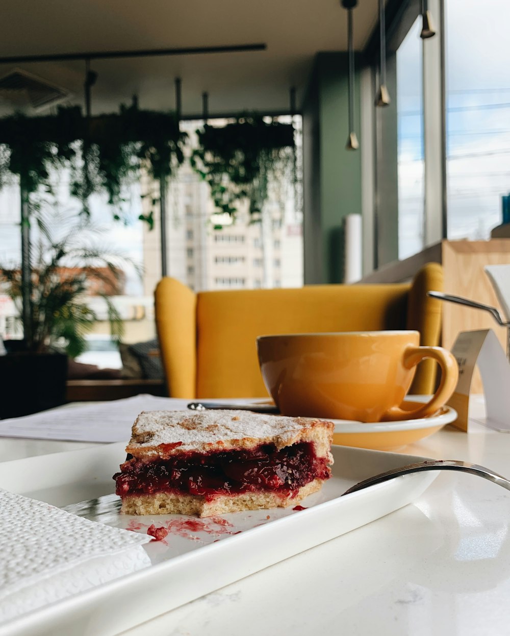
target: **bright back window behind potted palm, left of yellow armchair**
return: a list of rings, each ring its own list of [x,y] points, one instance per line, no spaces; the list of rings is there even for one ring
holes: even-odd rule
[[[123,317],[124,338],[129,340],[131,333],[136,333],[138,342],[154,338],[154,297],[152,291],[157,278],[151,278],[146,265],[149,256],[144,252],[144,237],[152,239],[156,234],[149,234],[147,224],[138,220],[138,216],[144,212],[147,198],[140,199],[140,187],[133,185],[128,192],[129,201],[123,202],[122,212],[125,215],[124,223],[114,221],[112,209],[107,204],[107,195],[94,193],[89,198],[90,221],[93,228],[100,229],[89,232],[81,230],[76,232],[79,223],[81,203],[69,195],[69,172],[66,170],[50,170],[51,193],[39,192],[34,195],[41,203],[43,209],[48,206],[51,209],[51,217],[48,218],[48,231],[51,242],[60,242],[68,235],[67,250],[81,249],[86,245],[95,245],[109,260],[119,263],[119,278],[111,275],[111,271],[103,268],[103,263],[98,263],[102,270],[102,280],[93,280],[87,277],[85,269],[86,259],[73,261],[74,266],[67,265],[64,259],[60,265],[62,277],[69,275],[74,270],[76,275],[86,277],[86,293],[83,301],[97,315],[94,326],[94,335],[87,335],[88,347],[80,361],[87,364],[97,364],[100,368],[120,368],[121,361],[118,350],[114,350],[111,340],[111,329],[107,319],[107,306],[101,294],[109,296],[112,305]],[[17,185],[12,188],[4,187],[0,190],[0,262],[20,266],[20,224],[19,205],[20,193]],[[59,218],[58,212],[62,214]],[[54,216],[55,215],[55,216]],[[76,225],[75,225],[76,223]],[[32,240],[32,258],[36,268],[42,264],[39,260],[39,248],[48,244],[43,235],[38,232],[36,223],[30,226],[30,238]],[[117,260],[116,255],[122,254],[129,260]],[[44,255],[44,262],[48,264],[48,254]],[[159,277],[158,277],[159,278]],[[0,290],[0,337],[20,338],[22,326],[19,321],[14,321],[18,315],[17,308],[9,302]],[[136,322],[136,324],[135,324]]]

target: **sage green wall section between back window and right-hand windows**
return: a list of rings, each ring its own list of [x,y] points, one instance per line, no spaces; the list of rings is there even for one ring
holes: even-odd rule
[[[347,53],[318,53],[302,108],[304,282],[344,280],[344,217],[361,214],[361,151],[347,150]],[[354,127],[359,132],[359,81]]]

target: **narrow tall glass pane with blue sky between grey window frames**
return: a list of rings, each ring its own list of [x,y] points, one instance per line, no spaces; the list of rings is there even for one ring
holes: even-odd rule
[[[398,258],[424,247],[424,141],[421,18],[397,50]]]

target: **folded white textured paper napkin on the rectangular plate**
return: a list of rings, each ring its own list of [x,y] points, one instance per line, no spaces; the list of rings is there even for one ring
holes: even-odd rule
[[[151,565],[148,541],[0,489],[0,625]]]

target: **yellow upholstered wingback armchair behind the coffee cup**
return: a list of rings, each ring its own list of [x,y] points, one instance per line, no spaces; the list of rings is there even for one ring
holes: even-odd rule
[[[408,284],[317,285],[195,294],[172,278],[156,287],[156,327],[171,397],[264,397],[257,336],[416,329],[440,343],[443,269],[428,263]],[[434,392],[436,365],[417,369],[411,392]]]

